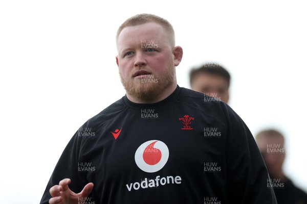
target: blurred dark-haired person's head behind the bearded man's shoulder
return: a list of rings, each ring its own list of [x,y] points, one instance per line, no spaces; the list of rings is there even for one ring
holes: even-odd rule
[[[191,89],[228,103],[230,74],[218,63],[205,63],[190,71]]]

